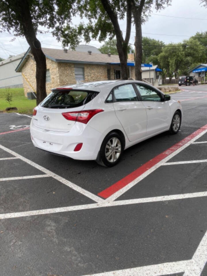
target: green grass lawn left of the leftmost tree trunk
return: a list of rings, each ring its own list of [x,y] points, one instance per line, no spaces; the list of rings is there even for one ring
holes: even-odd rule
[[[32,114],[32,109],[37,106],[36,100],[28,100],[24,96],[23,88],[10,88],[9,92],[12,93],[11,107],[16,107],[17,111],[8,111],[8,112],[18,112],[21,114]],[[6,89],[0,89],[0,110],[5,110],[9,107],[9,103],[5,100],[6,98]]]

